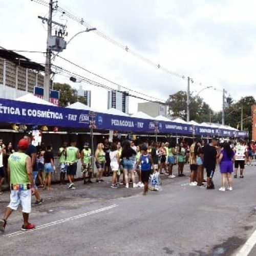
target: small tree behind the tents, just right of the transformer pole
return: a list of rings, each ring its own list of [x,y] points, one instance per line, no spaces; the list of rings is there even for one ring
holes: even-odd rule
[[[71,88],[68,83],[53,83],[53,89],[59,91],[59,105],[67,106],[77,101],[87,104],[86,99],[82,96],[77,96],[77,90]]]

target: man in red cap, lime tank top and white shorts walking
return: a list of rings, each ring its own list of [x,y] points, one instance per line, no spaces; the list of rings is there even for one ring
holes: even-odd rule
[[[35,192],[33,186],[33,173],[31,159],[25,154],[29,147],[26,139],[18,142],[18,152],[10,155],[8,159],[8,177],[10,177],[11,196],[10,203],[6,208],[4,219],[0,221],[0,230],[5,231],[7,219],[13,210],[22,205],[23,225],[22,230],[34,229],[35,225],[28,222],[31,212],[31,194]]]

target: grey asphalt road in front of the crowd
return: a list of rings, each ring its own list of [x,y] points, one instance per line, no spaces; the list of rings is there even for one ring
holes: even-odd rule
[[[19,231],[21,211],[13,212],[0,255],[236,255],[256,229],[255,167],[225,193],[191,187],[187,167],[185,174],[147,196],[107,182],[40,190],[45,202],[30,215],[37,228]],[[218,188],[218,172],[214,179]],[[8,202],[8,193],[0,196],[1,215]]]

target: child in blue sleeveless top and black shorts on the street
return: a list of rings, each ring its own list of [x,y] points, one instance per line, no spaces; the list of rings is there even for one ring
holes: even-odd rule
[[[148,191],[148,179],[150,178],[151,169],[154,167],[152,157],[148,154],[145,145],[141,148],[139,164],[141,165],[141,181],[144,184],[143,195],[145,196]]]

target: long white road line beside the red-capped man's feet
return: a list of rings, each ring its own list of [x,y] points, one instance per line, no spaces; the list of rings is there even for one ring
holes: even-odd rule
[[[27,232],[33,232],[33,231],[36,231],[38,229],[54,226],[54,225],[57,225],[57,224],[60,224],[60,223],[63,223],[63,222],[77,220],[77,219],[80,219],[80,218],[83,218],[83,217],[86,217],[86,216],[89,216],[89,215],[97,214],[98,212],[109,210],[109,209],[112,209],[112,208],[117,207],[117,206],[118,205],[113,204],[113,205],[110,205],[108,207],[104,207],[104,208],[101,208],[101,209],[98,209],[98,210],[92,210],[92,211],[89,211],[89,212],[85,212],[84,214],[76,215],[76,216],[73,216],[73,217],[70,217],[70,218],[66,218],[66,219],[57,220],[57,221],[49,222],[49,223],[46,223],[46,224],[42,224],[42,225],[36,226],[35,229],[30,229],[30,230],[25,230],[25,231],[20,230],[20,231],[13,232],[13,233],[10,233],[10,234],[5,234],[3,237],[19,236],[20,234],[24,234],[24,233],[27,233]]]

